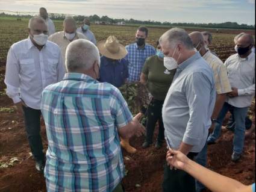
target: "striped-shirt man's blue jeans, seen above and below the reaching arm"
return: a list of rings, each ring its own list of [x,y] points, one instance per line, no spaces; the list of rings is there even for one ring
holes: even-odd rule
[[[200,164],[201,166],[206,167],[207,165],[207,142],[204,145],[204,148],[202,148],[201,152],[198,153],[195,157],[196,163]],[[204,185],[201,184],[198,180],[196,180],[196,192],[200,192],[202,189],[204,189]]]

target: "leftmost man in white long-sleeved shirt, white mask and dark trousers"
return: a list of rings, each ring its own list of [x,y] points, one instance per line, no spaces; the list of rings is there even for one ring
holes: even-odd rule
[[[30,19],[28,32],[28,39],[14,43],[9,49],[4,82],[7,95],[24,116],[36,169],[43,172],[45,154],[40,135],[41,94],[43,88],[63,78],[64,66],[60,48],[48,41],[48,28],[42,17]]]

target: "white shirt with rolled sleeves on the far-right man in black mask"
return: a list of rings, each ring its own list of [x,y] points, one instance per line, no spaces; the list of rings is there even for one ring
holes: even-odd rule
[[[238,89],[238,96],[226,102],[234,107],[250,106],[255,94],[255,54],[251,52],[246,58],[234,54],[224,64],[231,87]]]

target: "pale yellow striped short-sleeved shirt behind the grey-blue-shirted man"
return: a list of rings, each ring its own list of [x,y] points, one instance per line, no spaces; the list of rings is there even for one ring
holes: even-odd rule
[[[202,58],[204,58],[211,69],[213,69],[216,93],[223,94],[231,92],[232,89],[228,80],[228,72],[226,72],[226,67],[223,62],[210,51],[207,51]]]

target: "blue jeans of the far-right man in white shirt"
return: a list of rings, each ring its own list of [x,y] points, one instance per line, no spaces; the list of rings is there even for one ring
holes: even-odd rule
[[[233,110],[233,118],[236,122],[233,139],[233,151],[235,153],[241,154],[243,152],[243,143],[245,140],[245,117],[248,111],[248,107],[234,107],[225,102],[222,110],[219,113],[217,122],[215,123],[214,131],[208,137],[207,141],[214,142],[217,140],[217,138],[220,137],[222,122],[229,110]]]

